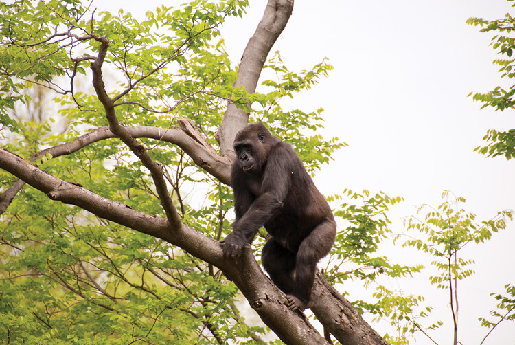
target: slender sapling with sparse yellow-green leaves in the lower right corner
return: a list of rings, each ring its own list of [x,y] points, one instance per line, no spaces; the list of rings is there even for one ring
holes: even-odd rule
[[[419,213],[428,209],[424,219],[417,216],[410,216],[407,219],[408,232],[416,230],[422,235],[422,238],[406,233],[399,234],[396,239],[407,236],[409,239],[404,241],[403,246],[416,247],[417,250],[429,254],[433,258],[431,266],[435,267],[437,274],[430,276],[429,280],[431,285],[436,285],[438,289],[448,291],[448,306],[450,307],[450,320],[452,321],[449,324],[453,325],[453,344],[456,345],[460,343],[458,341],[458,331],[459,291],[461,289],[459,289],[458,282],[474,274],[472,269],[474,260],[464,258],[461,249],[471,243],[485,243],[492,238],[492,233],[504,230],[506,221],[513,219],[513,211],[503,210],[488,221],[477,222],[475,214],[468,213],[461,208],[461,203],[465,202],[464,198],[456,197],[449,191],[445,191],[442,194],[442,199],[446,199],[446,201],[437,208],[429,205],[421,205],[418,208]],[[511,294],[510,297],[513,298],[513,287],[508,284],[506,288],[507,293]],[[480,318],[481,325],[495,327],[505,320],[514,320],[513,315],[510,315],[514,307],[514,302],[510,300],[510,297],[499,298],[498,296],[497,298],[503,300],[498,307],[500,311],[504,310],[505,315],[500,315],[499,312],[494,311],[492,315],[498,321],[488,322],[484,318]],[[426,317],[433,308],[428,307],[420,315],[414,315],[413,309],[415,308],[413,307],[417,305],[417,302],[409,300],[409,298],[401,298],[400,300],[408,305],[408,308],[400,313],[400,319],[402,320],[403,316],[407,318],[411,324],[409,330],[412,333],[420,330],[428,339],[437,344],[428,333],[444,324],[444,322],[437,321],[423,329],[422,323],[417,320]],[[490,332],[485,335],[485,338],[490,335]],[[481,344],[483,344],[485,338],[483,338]]]

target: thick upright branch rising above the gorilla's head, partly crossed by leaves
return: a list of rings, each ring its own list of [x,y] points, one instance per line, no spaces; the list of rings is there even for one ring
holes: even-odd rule
[[[266,56],[281,34],[293,11],[293,0],[268,0],[266,10],[254,35],[247,43],[238,66],[238,80],[234,86],[244,86],[247,93],[254,93]],[[249,104],[250,105],[250,104]],[[222,155],[233,155],[233,141],[236,133],[249,121],[249,113],[229,102],[217,140]]]

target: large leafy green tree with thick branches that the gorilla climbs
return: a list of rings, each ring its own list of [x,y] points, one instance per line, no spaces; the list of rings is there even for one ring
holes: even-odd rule
[[[264,342],[263,329],[248,326],[236,307],[239,289],[287,344],[324,344],[330,334],[341,344],[385,344],[323,272],[312,311],[325,337],[304,314],[286,308],[251,249],[236,260],[222,256],[218,240],[230,231],[232,208],[231,144],[249,117],[278,129],[310,172],[343,146],[306,135],[321,126],[321,109],[279,105],[330,70],[322,61],[293,73],[278,53],[266,62],[293,0],[268,1],[238,68],[231,65],[217,28],[246,5],[193,1],[137,21],[76,0],[0,4],[2,135],[22,134],[0,148],[2,339]],[[263,82],[268,93],[255,93],[263,68],[277,80]],[[85,80],[91,89],[81,87]],[[30,102],[24,91],[34,85],[56,92],[69,123],[65,133],[38,132],[27,145],[29,127],[10,114]],[[199,188],[207,200],[195,208],[195,198],[184,193]],[[362,209],[342,211],[360,222],[339,235],[333,255],[345,259],[350,252],[369,277],[415,271],[373,258],[387,221],[374,220],[371,207],[384,210],[396,199],[363,202]],[[259,252],[262,238],[257,242]],[[338,282],[361,272],[326,277]]]

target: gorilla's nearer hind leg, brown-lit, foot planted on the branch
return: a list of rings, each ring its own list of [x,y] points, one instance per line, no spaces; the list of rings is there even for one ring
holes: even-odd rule
[[[329,253],[335,236],[336,223],[331,219],[320,223],[302,241],[295,260],[295,289],[288,296],[290,309],[306,308],[311,297],[317,263]]]

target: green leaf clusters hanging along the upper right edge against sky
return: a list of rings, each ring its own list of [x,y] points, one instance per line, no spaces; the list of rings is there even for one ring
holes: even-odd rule
[[[512,5],[512,7],[515,7],[515,5]],[[492,37],[490,45],[498,54],[503,55],[504,58],[494,60],[494,64],[499,65],[501,78],[514,78],[515,58],[512,58],[512,54],[515,50],[515,38],[510,37],[509,34],[515,30],[515,19],[507,13],[502,19],[489,21],[482,18],[469,18],[467,23],[469,25],[481,26],[480,32],[499,32],[499,34]],[[468,96],[470,95],[472,93]],[[514,95],[515,85],[511,85],[508,89],[498,86],[488,93],[474,93],[472,99],[483,103],[481,109],[490,106],[494,107],[495,110],[503,111],[514,108]],[[478,146],[474,151],[478,151],[483,155],[488,154],[488,157],[496,157],[498,155],[504,155],[506,159],[515,157],[515,129],[507,131],[490,129],[483,137],[483,140],[488,140],[489,143],[486,146]]]

